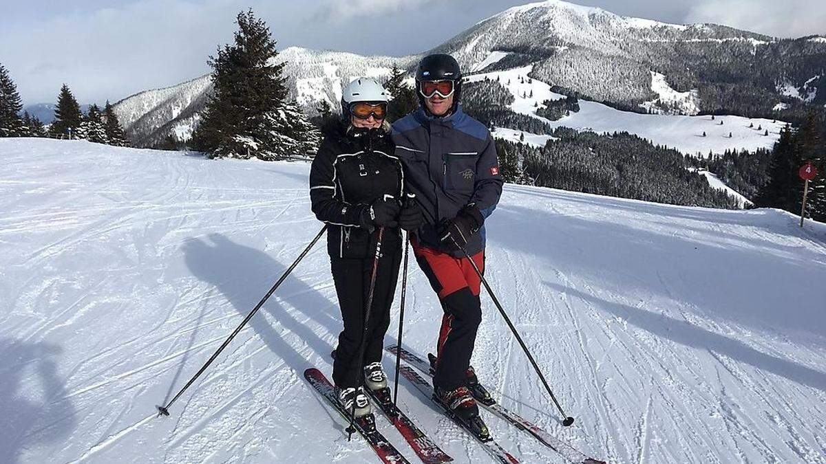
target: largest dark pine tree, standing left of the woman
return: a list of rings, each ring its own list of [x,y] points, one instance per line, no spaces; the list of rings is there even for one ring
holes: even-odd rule
[[[285,64],[265,22],[252,10],[236,17],[235,43],[210,57],[213,92],[192,134],[210,157],[279,159],[316,152],[320,133],[287,100]]]

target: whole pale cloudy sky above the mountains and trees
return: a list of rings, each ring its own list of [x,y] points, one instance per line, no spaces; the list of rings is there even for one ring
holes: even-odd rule
[[[79,102],[116,102],[209,72],[252,7],[278,47],[402,56],[429,50],[527,0],[2,0],[0,64],[26,105],[55,102],[67,83]],[[826,35],[823,0],[575,0],[630,17],[714,22],[771,36]]]

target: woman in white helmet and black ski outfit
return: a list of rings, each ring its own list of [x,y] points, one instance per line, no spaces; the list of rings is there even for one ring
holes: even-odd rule
[[[384,334],[401,262],[401,231],[421,224],[415,203],[401,206],[404,175],[385,121],[390,94],[372,78],[358,78],[344,88],[344,121],[327,135],[310,170],[310,198],[316,217],[330,225],[327,252],[339,298],[344,330],[335,348],[333,381],[347,410],[370,414],[363,385],[387,388],[382,371]],[[373,305],[366,308],[378,231],[384,228]],[[364,315],[370,310],[367,336]],[[359,359],[360,348],[364,349]],[[363,366],[363,372],[359,367]]]

